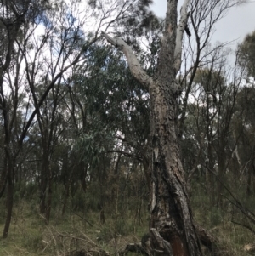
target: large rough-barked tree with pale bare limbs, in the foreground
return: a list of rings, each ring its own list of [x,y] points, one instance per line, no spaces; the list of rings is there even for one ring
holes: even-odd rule
[[[176,135],[176,108],[179,88],[176,75],[181,65],[182,39],[189,14],[190,0],[185,0],[177,25],[178,0],[167,1],[167,17],[156,76],[149,77],[132,49],[121,38],[102,37],[127,57],[130,70],[150,92],[151,255],[200,256],[201,247],[195,232],[189,198],[180,161]]]

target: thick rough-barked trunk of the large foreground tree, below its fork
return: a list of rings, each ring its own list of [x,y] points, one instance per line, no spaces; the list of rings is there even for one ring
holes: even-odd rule
[[[150,97],[152,254],[198,256],[201,247],[191,218],[175,130],[177,100],[170,88],[158,81],[152,84]]]

